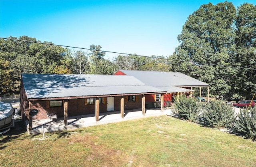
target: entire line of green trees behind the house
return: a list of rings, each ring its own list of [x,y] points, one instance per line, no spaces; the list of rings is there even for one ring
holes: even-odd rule
[[[256,91],[255,18],[253,4],[237,9],[231,2],[203,4],[188,16],[178,35],[180,46],[170,56],[132,54],[108,60],[99,45],[84,52],[10,36],[33,42],[0,40],[0,94],[18,93],[21,73],[112,75],[117,70],[148,70],[182,72],[210,84],[211,96],[250,99]]]

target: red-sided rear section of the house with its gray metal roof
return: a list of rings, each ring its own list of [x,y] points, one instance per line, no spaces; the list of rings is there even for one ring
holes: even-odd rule
[[[186,96],[192,97],[192,87],[208,87],[209,99],[209,85],[182,74],[180,72],[157,72],[157,71],[134,71],[134,70],[118,70],[114,75],[134,76],[146,85],[156,87],[166,91],[164,94],[164,106],[172,105],[174,95],[182,93]],[[160,107],[161,94],[146,95],[146,108]],[[200,91],[201,97],[201,91]]]

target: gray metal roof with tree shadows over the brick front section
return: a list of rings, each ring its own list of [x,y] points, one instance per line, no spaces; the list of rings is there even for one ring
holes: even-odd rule
[[[28,99],[166,92],[133,76],[22,74],[22,81]]]

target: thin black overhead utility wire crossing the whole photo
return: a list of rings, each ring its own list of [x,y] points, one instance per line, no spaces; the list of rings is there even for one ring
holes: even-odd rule
[[[115,53],[115,54],[125,54],[125,53],[120,53],[120,52],[111,52],[111,51],[104,51],[104,50],[97,50],[97,49],[88,49],[88,48],[74,47],[74,46],[57,45],[57,44],[50,44],[50,43],[43,43],[43,42],[35,42],[35,41],[28,41],[28,40],[18,40],[18,39],[12,39],[12,38],[2,38],[2,37],[0,37],[0,39],[4,39],[4,40],[14,40],[14,41],[22,41],[22,42],[31,42],[31,43],[37,43],[37,44],[53,45],[53,46],[62,46],[62,47],[67,47],[67,48],[94,50],[94,51],[108,52],[108,53]],[[196,63],[196,64],[205,64],[205,65],[212,65],[212,66],[221,66],[221,67],[230,67],[230,68],[240,68],[240,69],[246,69],[246,70],[256,70],[255,68],[226,66],[226,65],[219,65],[219,64],[200,63],[200,62],[193,62],[193,61],[187,61],[187,60],[176,60],[176,59],[159,58],[159,57],[157,58],[157,57],[142,56],[142,55],[135,55],[135,54],[125,54],[125,55],[140,56],[140,57],[145,57],[145,58],[163,59],[163,60],[171,60],[171,61],[178,61],[178,62],[188,62],[188,63]]]

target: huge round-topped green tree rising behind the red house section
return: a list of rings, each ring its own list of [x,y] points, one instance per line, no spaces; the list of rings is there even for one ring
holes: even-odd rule
[[[235,15],[236,8],[231,2],[218,3],[216,6],[205,4],[193,12],[183,26],[182,34],[178,35],[180,46],[170,57],[184,62],[172,62],[172,71],[209,83],[212,95],[228,93],[236,71],[223,66],[232,65],[230,59],[236,51]]]

